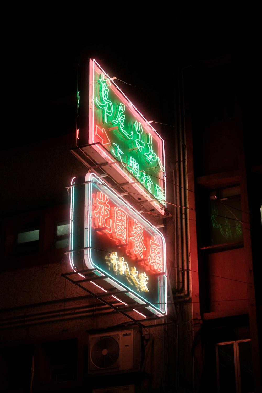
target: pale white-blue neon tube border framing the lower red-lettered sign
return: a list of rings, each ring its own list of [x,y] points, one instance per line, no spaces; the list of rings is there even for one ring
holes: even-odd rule
[[[158,298],[159,298],[159,303],[161,304],[161,300],[163,299],[164,303],[164,310],[162,311],[160,308],[156,307],[156,305],[150,303],[147,299],[143,298],[143,296],[137,294],[137,292],[134,292],[132,288],[126,286],[123,284],[121,281],[118,281],[115,276],[110,275],[107,271],[103,270],[100,266],[97,266],[92,260],[92,211],[90,211],[90,207],[92,206],[91,199],[92,199],[92,184],[93,184],[93,179],[96,181],[94,183],[97,183],[99,185],[104,186],[108,192],[109,195],[112,193],[117,199],[120,199],[124,205],[128,209],[131,209],[139,215],[140,219],[142,222],[145,223],[145,225],[148,225],[152,231],[155,231],[158,233],[158,235],[161,237],[163,241],[163,285],[158,286]],[[84,248],[87,248],[84,251],[84,261],[87,265],[88,268],[91,269],[97,269],[98,272],[103,272],[102,274],[109,275],[109,279],[106,279],[106,281],[113,281],[113,285],[115,286],[115,283],[117,284],[119,290],[127,289],[131,293],[133,293],[136,297],[140,298],[142,301],[149,303],[150,304],[150,309],[151,307],[157,312],[160,313],[161,316],[167,315],[167,266],[166,266],[166,244],[165,244],[165,238],[163,237],[163,234],[155,228],[147,219],[145,219],[136,209],[134,209],[128,202],[126,202],[123,198],[121,198],[120,195],[118,195],[113,189],[110,189],[108,185],[106,185],[101,179],[96,174],[93,173],[87,173],[85,177],[85,211],[84,211]],[[72,208],[71,208],[72,209]],[[163,288],[162,288],[163,287]],[[163,304],[162,303],[162,304]],[[160,306],[159,306],[160,307]],[[149,307],[148,307],[149,308]]]

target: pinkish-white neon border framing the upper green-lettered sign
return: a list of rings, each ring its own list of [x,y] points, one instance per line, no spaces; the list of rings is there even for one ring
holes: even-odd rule
[[[91,59],[90,59],[91,60]],[[104,75],[106,76],[106,77],[108,77],[108,79],[110,79],[110,82],[112,82],[113,84],[114,84],[114,86],[115,86],[115,88],[126,98],[126,100],[128,101],[128,103],[130,104],[130,106],[132,107],[132,108],[134,108],[134,110],[139,114],[139,116],[141,116],[141,118],[143,118],[144,119],[144,121],[147,123],[147,125],[152,129],[152,131],[154,131],[154,134],[156,134],[157,136],[158,136],[158,138],[162,141],[162,143],[163,143],[163,162],[164,162],[164,164],[163,164],[163,166],[164,166],[164,168],[165,168],[165,143],[164,143],[164,140],[163,140],[163,138],[158,134],[158,132],[152,127],[152,125],[147,121],[147,119],[145,119],[144,118],[144,116],[139,112],[139,110],[137,110],[137,108],[132,104],[132,102],[126,97],[126,95],[122,92],[122,90],[117,86],[117,84],[110,78],[110,76],[106,73],[106,72],[104,72],[104,70],[103,70],[103,68],[97,63],[97,61],[95,61],[95,59],[93,59],[93,77],[92,77],[92,88],[93,88],[93,90],[92,90],[92,143],[95,143],[95,141],[94,141],[94,81],[95,81],[95,64],[97,65],[97,67],[104,73]],[[89,135],[90,135],[90,125],[89,125]],[[89,142],[90,143],[90,142]],[[101,150],[101,152],[103,153],[103,155],[104,156],[106,156],[107,158],[108,158],[108,160],[110,160],[111,162],[114,162],[113,160],[112,160],[112,158],[110,158],[98,145],[97,145],[97,148],[99,149],[99,150]],[[122,172],[122,174],[123,174],[123,176],[127,179],[127,181],[129,182],[129,183],[132,183],[133,182],[133,180],[129,177],[129,176],[127,176],[126,174],[125,174],[125,172],[123,171],[123,169],[121,169],[119,166],[118,166],[118,164],[114,164],[116,167],[117,167],[117,169],[119,169],[119,171],[120,172]],[[157,203],[157,202],[155,202],[155,200],[154,199],[152,199],[152,197],[150,196],[150,195],[148,195],[148,193],[144,190],[144,189],[142,189],[139,185],[137,185],[137,184],[133,184],[133,186],[134,187],[136,187],[136,188],[138,188],[138,189],[140,189],[141,191],[140,191],[140,193],[141,193],[141,195],[143,195],[147,200],[148,200],[148,202],[152,202],[152,204],[154,204],[155,206],[158,206],[158,211],[160,212],[160,213],[162,213],[162,214],[164,214],[164,212],[162,211],[162,209],[161,209],[161,206],[159,206],[159,204]],[[162,205],[164,205],[165,207],[167,207],[167,196],[166,196],[166,175],[165,175],[165,171],[163,172],[163,189],[164,189],[164,191],[165,191],[165,201],[163,201],[163,203],[162,203]],[[165,203],[164,203],[165,202]],[[160,202],[159,202],[160,203]]]

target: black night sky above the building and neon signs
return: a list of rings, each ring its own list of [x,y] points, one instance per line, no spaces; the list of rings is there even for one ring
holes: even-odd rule
[[[261,47],[259,13],[251,5],[176,2],[176,12],[167,4],[125,7],[73,1],[1,6],[2,148],[74,132],[84,59],[95,58],[121,79],[118,86],[147,120],[165,122],[156,108],[168,94],[178,55],[191,65],[213,49],[219,55],[233,46]]]

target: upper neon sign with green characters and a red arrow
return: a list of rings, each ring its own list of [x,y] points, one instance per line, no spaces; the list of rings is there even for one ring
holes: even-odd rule
[[[91,59],[88,141],[108,162],[118,162],[143,195],[166,206],[163,139]]]

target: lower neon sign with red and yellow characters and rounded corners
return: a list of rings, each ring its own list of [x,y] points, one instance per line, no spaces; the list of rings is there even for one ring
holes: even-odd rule
[[[162,233],[92,173],[72,180],[70,263],[75,271],[95,269],[155,314],[167,313]]]

